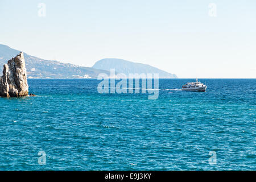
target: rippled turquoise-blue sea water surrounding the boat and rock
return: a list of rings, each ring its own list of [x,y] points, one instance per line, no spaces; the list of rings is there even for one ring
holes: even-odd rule
[[[159,80],[148,100],[99,94],[93,79],[28,80],[37,97],[0,98],[0,169],[255,170],[256,80],[201,79],[205,93],[181,91],[187,81]]]

